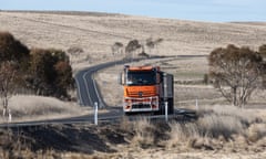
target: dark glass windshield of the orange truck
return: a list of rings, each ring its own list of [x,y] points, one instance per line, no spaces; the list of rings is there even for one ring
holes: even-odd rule
[[[154,85],[156,84],[156,74],[153,71],[129,71],[126,85]]]

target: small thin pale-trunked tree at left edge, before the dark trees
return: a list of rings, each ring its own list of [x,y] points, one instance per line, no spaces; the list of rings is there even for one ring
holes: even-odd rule
[[[8,110],[9,99],[16,89],[16,70],[11,62],[2,62],[0,65],[0,95],[3,106],[3,116]]]

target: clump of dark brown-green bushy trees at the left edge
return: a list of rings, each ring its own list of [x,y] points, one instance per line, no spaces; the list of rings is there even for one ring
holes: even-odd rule
[[[12,91],[27,88],[37,95],[65,99],[69,98],[68,89],[73,87],[72,67],[65,52],[28,49],[9,32],[0,32],[0,65],[6,68],[1,70],[2,81],[17,86]],[[12,73],[12,76],[7,73]],[[13,93],[9,87],[1,92]]]

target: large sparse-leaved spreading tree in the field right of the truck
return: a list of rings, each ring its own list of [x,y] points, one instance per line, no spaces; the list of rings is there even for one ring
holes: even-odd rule
[[[228,45],[214,50],[208,63],[214,86],[233,105],[243,107],[260,82],[262,56],[248,47]]]

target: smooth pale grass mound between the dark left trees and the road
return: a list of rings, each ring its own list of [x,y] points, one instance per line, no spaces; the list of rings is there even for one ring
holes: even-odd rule
[[[80,116],[89,113],[74,103],[62,102],[52,97],[18,95],[10,99],[12,121],[53,119]],[[0,119],[2,121],[2,118]]]

